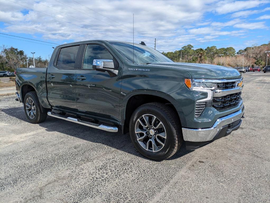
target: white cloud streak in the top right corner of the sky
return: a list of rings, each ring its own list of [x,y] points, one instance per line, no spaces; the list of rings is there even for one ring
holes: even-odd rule
[[[249,1],[231,1],[225,0],[217,3],[217,8],[214,10],[218,14],[227,14],[244,9],[254,8],[262,4],[267,4],[267,0],[249,0]]]

